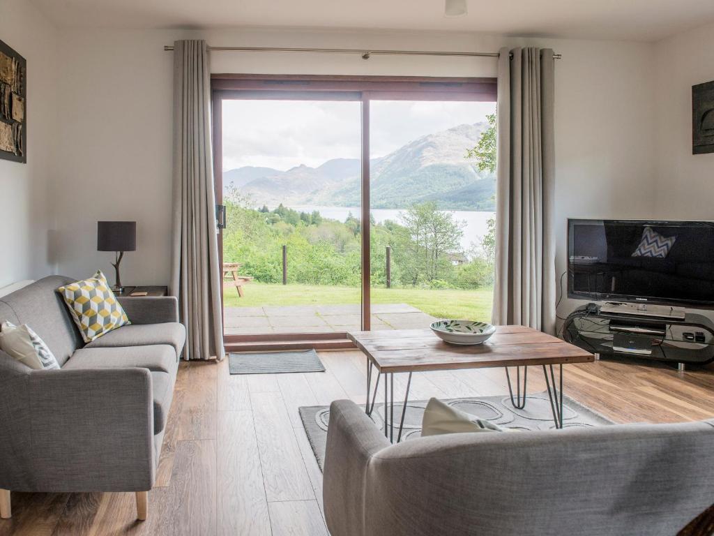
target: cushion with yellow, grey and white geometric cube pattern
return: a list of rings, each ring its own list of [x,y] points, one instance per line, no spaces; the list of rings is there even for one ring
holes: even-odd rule
[[[61,292],[84,342],[92,342],[112,329],[131,324],[101,270],[97,270],[94,277],[59,287],[57,292]]]

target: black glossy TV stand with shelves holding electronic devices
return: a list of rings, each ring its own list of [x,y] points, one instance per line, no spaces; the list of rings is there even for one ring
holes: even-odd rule
[[[563,336],[603,357],[638,357],[678,364],[714,360],[714,324],[702,314],[683,319],[603,312],[595,304],[575,309],[563,326]]]

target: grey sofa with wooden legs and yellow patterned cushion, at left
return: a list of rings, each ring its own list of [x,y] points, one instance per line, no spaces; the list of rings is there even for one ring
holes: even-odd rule
[[[10,492],[136,492],[145,519],[186,332],[175,297],[119,298],[132,324],[84,344],[51,276],[0,298],[59,370],[0,351],[0,515]]]

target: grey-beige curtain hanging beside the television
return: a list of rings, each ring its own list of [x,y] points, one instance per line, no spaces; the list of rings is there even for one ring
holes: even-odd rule
[[[498,59],[493,323],[555,332],[553,51]]]

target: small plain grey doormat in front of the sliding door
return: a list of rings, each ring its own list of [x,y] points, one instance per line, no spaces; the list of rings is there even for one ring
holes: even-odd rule
[[[325,372],[314,349],[297,352],[228,354],[231,374],[279,374],[281,372]]]

